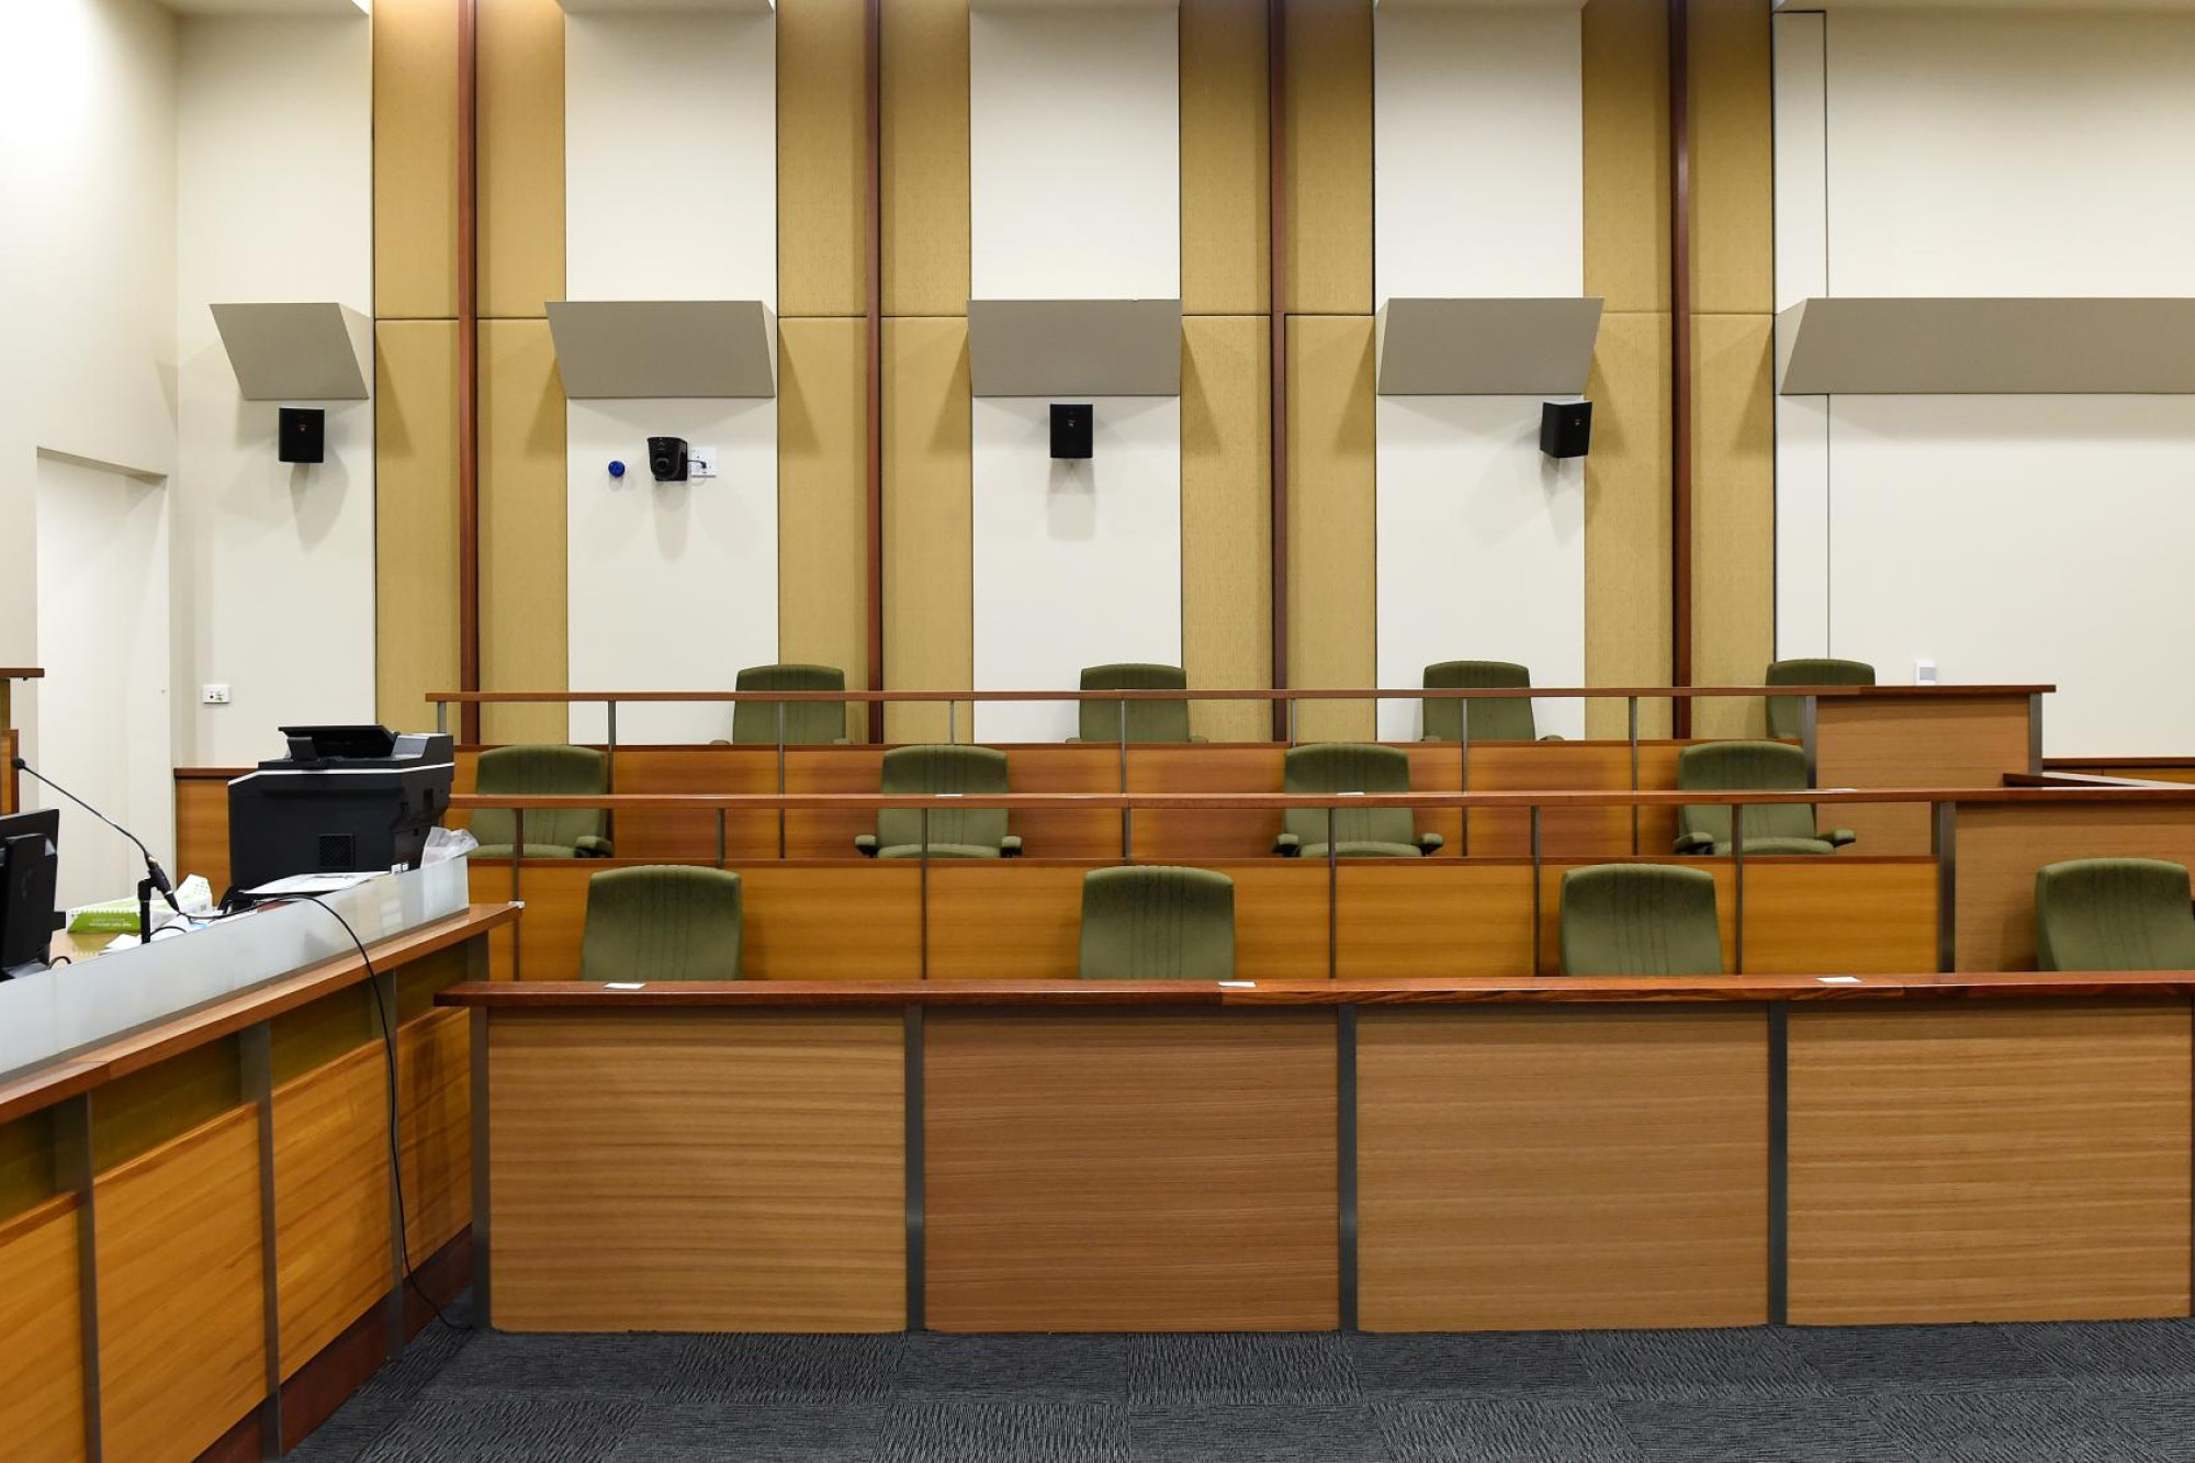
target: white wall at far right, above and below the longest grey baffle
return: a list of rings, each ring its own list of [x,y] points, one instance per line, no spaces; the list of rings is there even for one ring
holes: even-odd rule
[[[1780,15],[1778,303],[2195,294],[2195,18]],[[1778,652],[2057,683],[2046,753],[2195,745],[2188,398],[1778,404]]]

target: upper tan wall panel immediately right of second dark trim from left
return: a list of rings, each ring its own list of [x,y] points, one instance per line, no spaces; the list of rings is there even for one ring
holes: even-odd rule
[[[887,7],[882,112],[885,314],[961,314],[968,0]]]

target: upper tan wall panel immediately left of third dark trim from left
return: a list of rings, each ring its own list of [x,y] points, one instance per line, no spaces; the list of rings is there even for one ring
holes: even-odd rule
[[[1264,31],[1262,4],[1181,0],[1185,314],[1264,314],[1273,301]]]

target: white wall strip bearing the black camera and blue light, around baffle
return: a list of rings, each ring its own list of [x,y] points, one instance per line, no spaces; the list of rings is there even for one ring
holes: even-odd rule
[[[770,15],[571,15],[564,209],[571,299],[777,305]],[[777,402],[573,402],[571,685],[722,690],[777,659]],[[648,437],[720,453],[658,488]],[[623,461],[623,483],[606,464]],[[729,736],[729,707],[630,707],[632,742]],[[575,707],[575,738],[601,736]]]

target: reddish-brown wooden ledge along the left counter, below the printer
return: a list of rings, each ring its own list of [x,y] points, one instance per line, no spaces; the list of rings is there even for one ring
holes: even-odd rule
[[[367,945],[378,969],[410,964],[424,956],[461,945],[479,934],[498,929],[518,918],[518,905],[472,905],[463,914],[421,925],[389,940]],[[97,962],[83,969],[90,975]],[[204,1006],[176,1013],[165,1021],[154,1021],[108,1041],[66,1052],[35,1068],[24,1068],[0,1079],[0,1123],[20,1118],[40,1107],[53,1107],[79,1092],[105,1085],[143,1068],[187,1052],[209,1041],[235,1035],[246,1026],[257,1026],[285,1010],[296,1010],[331,991],[353,986],[367,978],[367,964],[358,951],[334,956],[318,964],[270,980],[250,991],[224,995]]]

